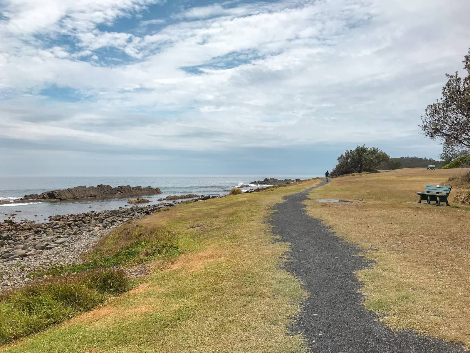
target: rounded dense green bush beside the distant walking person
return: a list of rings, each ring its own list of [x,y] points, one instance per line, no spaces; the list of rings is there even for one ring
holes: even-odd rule
[[[338,164],[331,171],[331,176],[370,171],[380,163],[387,162],[389,156],[377,147],[367,148],[362,145],[357,146],[355,150],[346,150],[337,160]]]

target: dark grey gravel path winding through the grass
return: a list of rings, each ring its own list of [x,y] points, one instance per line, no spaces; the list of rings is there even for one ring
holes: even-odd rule
[[[356,256],[357,246],[340,240],[305,213],[302,202],[310,190],[285,197],[274,207],[277,212],[271,221],[274,233],[292,244],[288,270],[305,283],[311,296],[302,304],[291,332],[302,333],[315,353],[463,352],[461,345],[411,330],[393,332],[360,305],[363,297],[354,271],[368,263]]]

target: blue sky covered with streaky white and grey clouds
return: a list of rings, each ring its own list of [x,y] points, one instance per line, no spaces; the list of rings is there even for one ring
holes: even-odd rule
[[[319,175],[437,159],[468,0],[0,0],[0,176]]]

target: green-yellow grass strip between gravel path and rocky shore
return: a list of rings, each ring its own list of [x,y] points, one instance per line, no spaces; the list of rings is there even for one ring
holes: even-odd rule
[[[305,352],[286,326],[305,296],[279,269],[288,244],[264,223],[282,196],[318,181],[270,192],[184,204],[136,224],[180,234],[183,254],[110,305],[2,352]]]

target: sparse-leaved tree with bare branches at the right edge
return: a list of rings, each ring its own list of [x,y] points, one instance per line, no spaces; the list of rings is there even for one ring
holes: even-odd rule
[[[442,97],[430,104],[421,117],[421,129],[431,139],[445,139],[457,146],[470,147],[470,49],[463,60],[468,75],[446,74]]]

